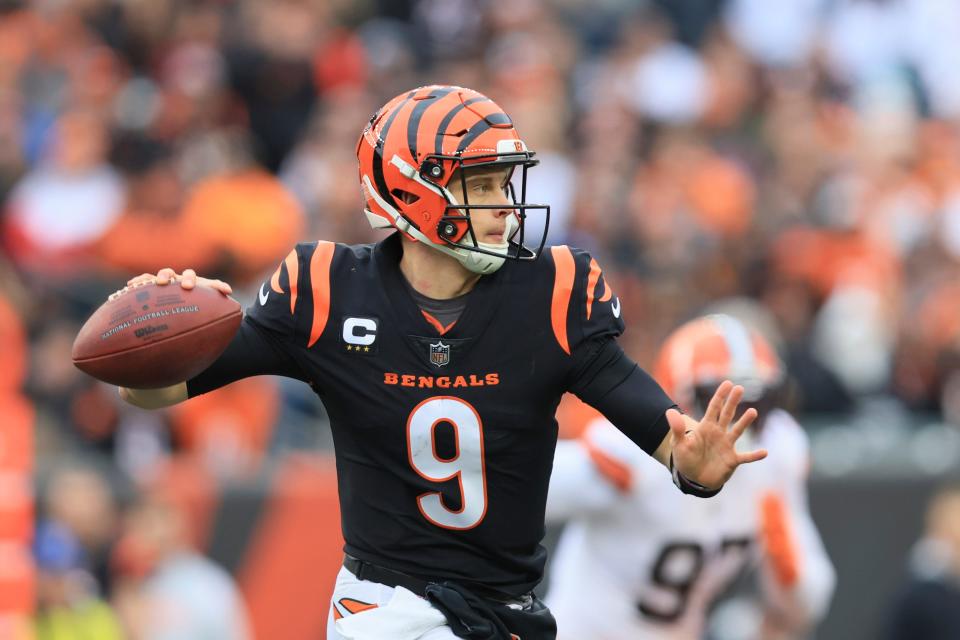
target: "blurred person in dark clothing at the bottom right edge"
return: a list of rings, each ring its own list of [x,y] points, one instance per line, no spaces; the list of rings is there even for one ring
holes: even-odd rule
[[[931,501],[924,537],[911,558],[911,580],[892,603],[889,640],[960,637],[960,487]]]

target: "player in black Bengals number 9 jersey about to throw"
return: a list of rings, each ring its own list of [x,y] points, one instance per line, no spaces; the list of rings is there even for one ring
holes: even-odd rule
[[[743,389],[724,382],[701,420],[686,417],[624,355],[620,300],[597,262],[544,248],[545,224],[526,237],[528,216],[549,216],[525,201],[537,159],[490,98],[401,94],[357,156],[366,218],[395,233],[298,245],[207,371],[121,395],[158,407],[261,374],[312,386],[330,416],[346,541],[329,638],[552,638],[532,589],[561,395],[704,496],[766,454],[734,447],[756,413],[735,419]],[[229,291],[170,269],[130,284],[153,280]]]

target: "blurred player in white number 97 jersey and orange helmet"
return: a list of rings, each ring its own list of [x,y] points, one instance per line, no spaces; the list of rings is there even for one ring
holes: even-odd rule
[[[566,521],[547,601],[559,640],[702,638],[713,601],[741,572],[759,576],[762,615],[738,638],[803,637],[826,613],[835,573],[807,506],[808,441],[777,408],[784,370],[759,332],[727,315],[697,318],[664,343],[654,375],[690,414],[730,379],[760,417],[742,446],[765,447],[708,499],[602,416],[557,448],[547,517]]]

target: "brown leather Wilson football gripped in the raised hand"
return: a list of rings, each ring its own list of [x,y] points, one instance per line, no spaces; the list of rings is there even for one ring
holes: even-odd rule
[[[210,366],[242,318],[240,303],[208,287],[127,287],[84,323],[73,342],[73,363],[122,387],[170,386]]]

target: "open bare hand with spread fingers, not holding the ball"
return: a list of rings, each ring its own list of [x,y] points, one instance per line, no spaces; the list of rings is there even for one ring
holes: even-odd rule
[[[697,422],[675,409],[667,411],[673,443],[673,464],[685,477],[708,488],[722,486],[738,466],[767,457],[766,449],[741,453],[737,439],[756,419],[756,409],[747,409],[735,422],[743,387],[724,380]],[[731,424],[732,423],[732,424]]]

